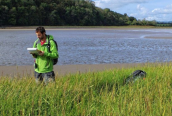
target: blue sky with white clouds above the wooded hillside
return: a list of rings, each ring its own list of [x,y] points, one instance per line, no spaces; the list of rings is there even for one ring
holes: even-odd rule
[[[100,8],[137,19],[172,21],[172,0],[93,0]]]

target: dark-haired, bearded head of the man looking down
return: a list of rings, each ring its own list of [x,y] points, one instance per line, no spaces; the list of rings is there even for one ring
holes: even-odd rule
[[[36,28],[36,35],[39,38],[39,40],[43,40],[46,37],[45,33],[46,32],[45,32],[44,27],[37,27]]]

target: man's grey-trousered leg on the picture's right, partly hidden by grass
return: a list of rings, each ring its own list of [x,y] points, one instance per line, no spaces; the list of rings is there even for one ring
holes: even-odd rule
[[[55,81],[55,73],[54,73],[54,71],[48,72],[48,73],[44,73],[43,74],[43,81],[44,81],[45,85],[47,85],[50,82],[54,82]]]

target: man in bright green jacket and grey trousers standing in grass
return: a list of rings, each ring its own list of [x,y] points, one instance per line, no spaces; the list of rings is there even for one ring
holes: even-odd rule
[[[33,48],[37,48],[39,53],[32,54],[35,58],[34,76],[37,83],[44,82],[46,85],[50,81],[55,81],[52,59],[58,58],[58,51],[53,36],[46,35],[44,27],[37,27],[36,35],[38,39],[34,42]]]

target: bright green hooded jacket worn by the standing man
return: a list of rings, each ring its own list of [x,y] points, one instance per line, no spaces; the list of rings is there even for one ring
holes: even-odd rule
[[[53,71],[52,59],[58,58],[58,51],[56,49],[56,45],[55,45],[53,39],[54,39],[53,36],[49,35],[51,53],[48,51],[48,48],[47,48],[48,36],[46,38],[46,42],[42,46],[41,46],[41,42],[39,41],[39,39],[37,39],[34,42],[33,48],[36,48],[36,44],[37,44],[37,49],[44,51],[43,56],[33,55],[33,57],[36,58],[35,63],[37,64],[37,68],[35,68],[35,71],[38,73],[46,73],[46,72]]]

